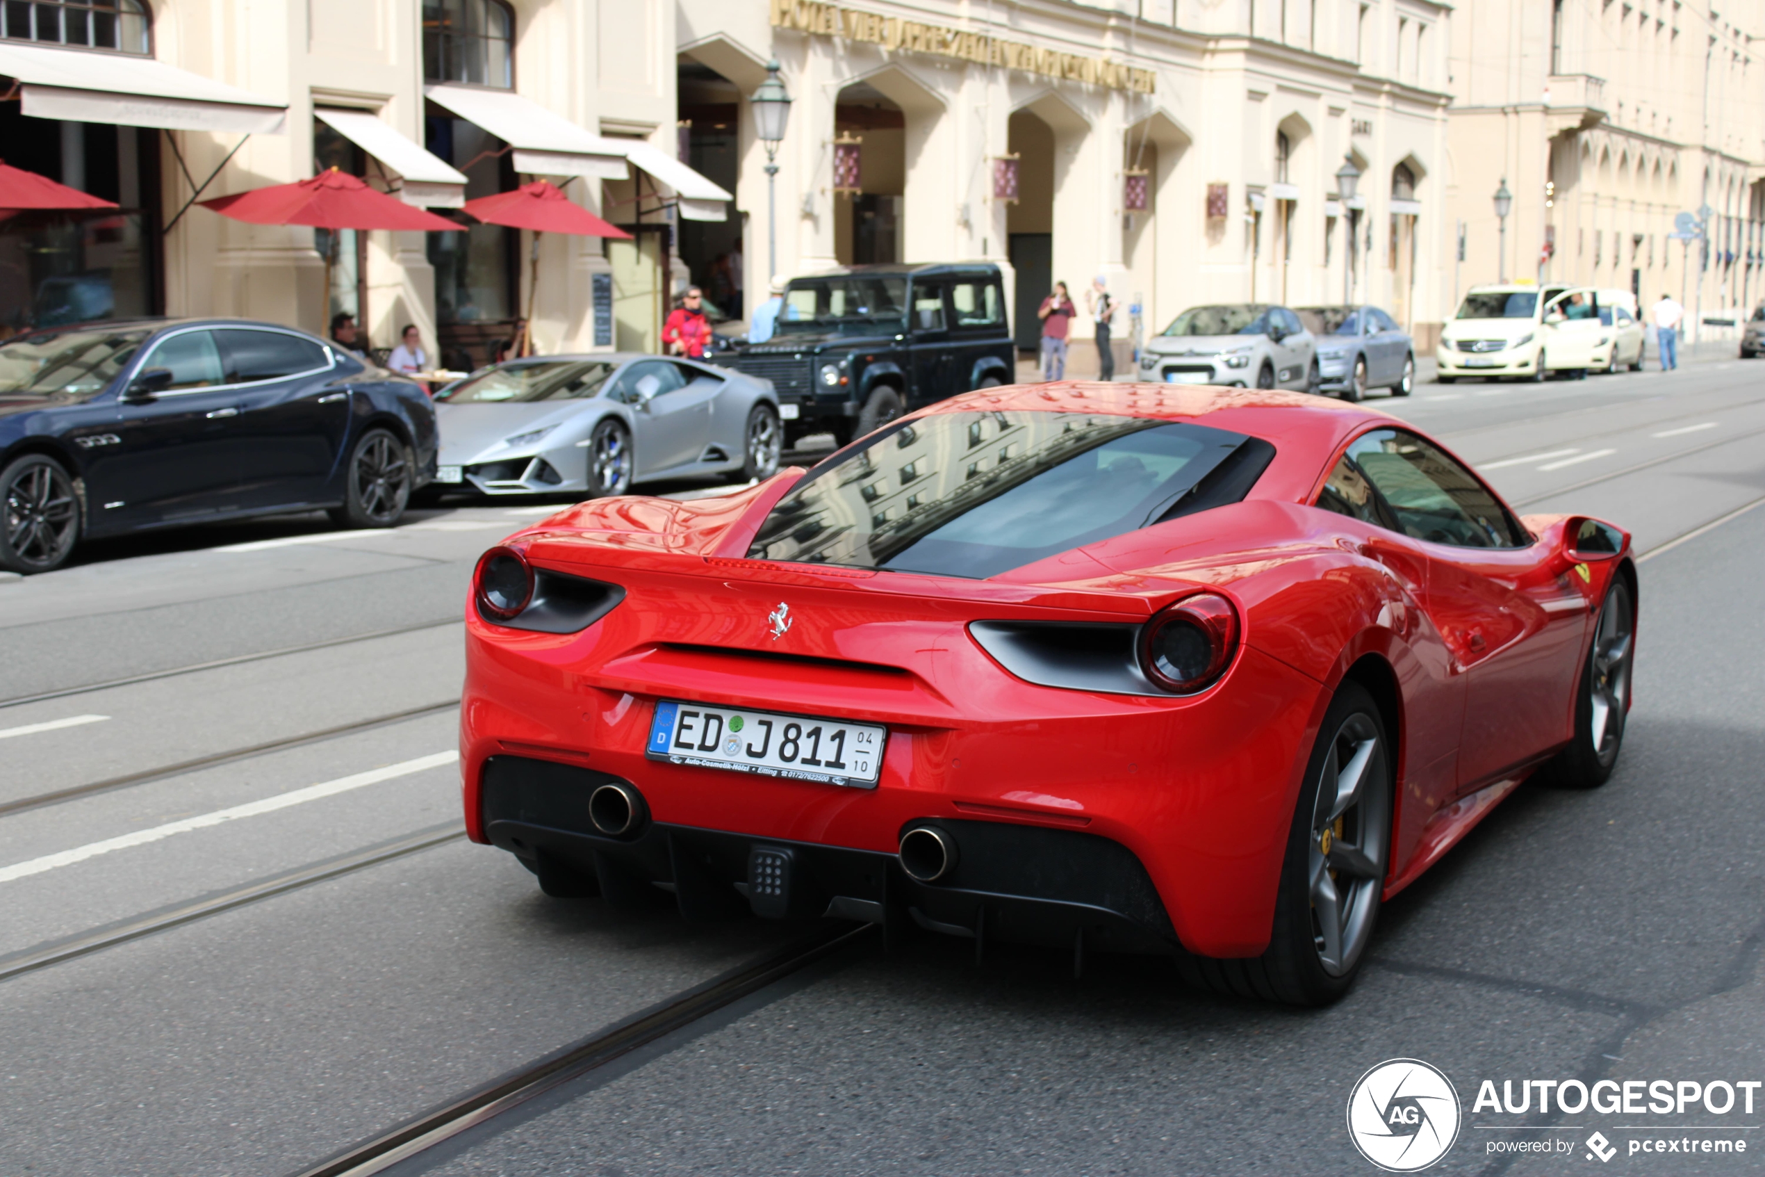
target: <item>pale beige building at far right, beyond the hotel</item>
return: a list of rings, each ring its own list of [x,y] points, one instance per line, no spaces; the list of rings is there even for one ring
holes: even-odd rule
[[[1703,337],[1765,296],[1765,4],[1477,0],[1453,18],[1463,284],[1670,293]],[[1506,180],[1502,222],[1493,194]],[[1689,214],[1698,236],[1675,238]],[[1701,316],[1700,316],[1701,312]]]

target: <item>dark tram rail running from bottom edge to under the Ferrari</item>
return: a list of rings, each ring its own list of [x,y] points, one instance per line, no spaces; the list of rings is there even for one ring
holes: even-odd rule
[[[808,937],[762,960],[688,988],[612,1027],[597,1031],[510,1075],[351,1145],[311,1168],[297,1170],[291,1177],[369,1177],[381,1173],[537,1096],[681,1031],[819,960],[852,948],[874,932],[875,925],[840,923],[817,928]]]

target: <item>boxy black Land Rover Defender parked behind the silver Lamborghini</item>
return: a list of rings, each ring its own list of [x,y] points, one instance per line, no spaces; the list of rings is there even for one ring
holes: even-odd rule
[[[872,265],[791,279],[766,342],[717,356],[778,390],[785,443],[845,445],[902,413],[1011,383],[999,266]]]

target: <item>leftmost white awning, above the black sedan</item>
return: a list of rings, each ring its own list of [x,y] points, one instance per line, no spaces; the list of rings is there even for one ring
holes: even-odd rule
[[[288,116],[286,102],[131,53],[0,41],[0,74],[23,83],[23,113],[34,118],[281,134]]]

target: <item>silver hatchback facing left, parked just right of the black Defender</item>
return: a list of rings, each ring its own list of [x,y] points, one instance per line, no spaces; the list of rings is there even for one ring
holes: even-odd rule
[[[1140,379],[1318,392],[1322,374],[1299,316],[1251,302],[1179,314],[1140,348]]]

